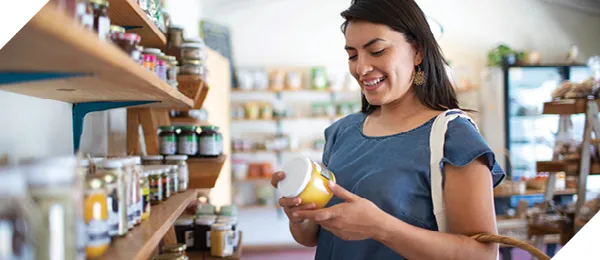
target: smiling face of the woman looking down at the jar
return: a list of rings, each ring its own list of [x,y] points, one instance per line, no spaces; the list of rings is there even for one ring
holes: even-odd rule
[[[387,25],[352,21],[346,27],[352,76],[371,105],[386,105],[406,95],[421,55],[402,33]]]

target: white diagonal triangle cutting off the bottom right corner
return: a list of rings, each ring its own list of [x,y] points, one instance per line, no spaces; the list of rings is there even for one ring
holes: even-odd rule
[[[600,259],[600,214],[596,214],[552,258],[553,260]]]

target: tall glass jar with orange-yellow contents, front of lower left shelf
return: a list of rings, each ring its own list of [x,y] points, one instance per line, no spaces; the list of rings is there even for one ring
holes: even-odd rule
[[[102,256],[110,244],[108,234],[108,205],[106,205],[106,187],[101,175],[89,175],[84,198],[84,219],[87,225],[86,256]]]

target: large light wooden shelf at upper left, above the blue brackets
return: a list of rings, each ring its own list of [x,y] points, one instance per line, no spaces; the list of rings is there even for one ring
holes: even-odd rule
[[[115,44],[100,41],[52,4],[42,8],[0,49],[0,72],[66,73],[60,79],[0,86],[0,90],[44,99],[69,103],[159,101],[143,106],[169,108],[193,105]]]

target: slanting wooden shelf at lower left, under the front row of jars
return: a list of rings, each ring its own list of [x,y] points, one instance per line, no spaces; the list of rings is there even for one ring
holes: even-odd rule
[[[150,218],[134,227],[127,235],[114,239],[108,252],[97,259],[149,259],[175,220],[196,199],[196,195],[196,190],[188,190],[152,206]]]

